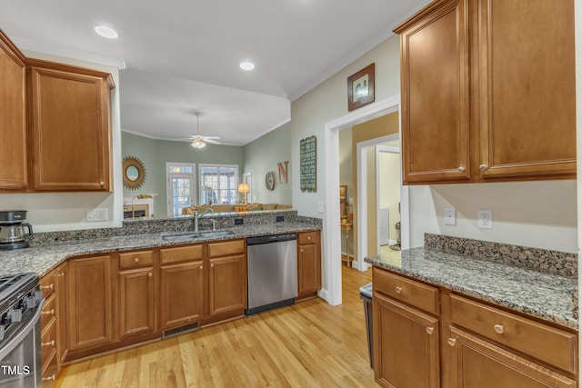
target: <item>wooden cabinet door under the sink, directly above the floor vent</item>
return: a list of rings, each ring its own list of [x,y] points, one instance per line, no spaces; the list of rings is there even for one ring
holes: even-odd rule
[[[204,317],[204,261],[160,268],[160,326],[162,329],[196,323]]]

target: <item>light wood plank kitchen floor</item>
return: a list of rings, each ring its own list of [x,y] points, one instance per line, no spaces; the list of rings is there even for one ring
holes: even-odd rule
[[[342,266],[343,303],[319,298],[65,367],[61,387],[377,387],[366,273]]]

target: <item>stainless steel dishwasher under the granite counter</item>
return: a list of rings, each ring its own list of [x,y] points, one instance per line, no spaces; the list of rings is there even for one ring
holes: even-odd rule
[[[297,234],[246,239],[248,308],[246,315],[295,303],[297,296]]]

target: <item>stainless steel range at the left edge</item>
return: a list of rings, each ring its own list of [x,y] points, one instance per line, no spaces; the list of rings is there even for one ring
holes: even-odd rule
[[[41,386],[43,303],[36,274],[0,276],[0,388]]]

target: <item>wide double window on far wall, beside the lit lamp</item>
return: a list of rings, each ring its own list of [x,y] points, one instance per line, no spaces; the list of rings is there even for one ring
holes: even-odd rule
[[[199,164],[200,204],[236,204],[238,201],[238,166]]]

